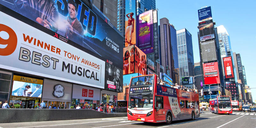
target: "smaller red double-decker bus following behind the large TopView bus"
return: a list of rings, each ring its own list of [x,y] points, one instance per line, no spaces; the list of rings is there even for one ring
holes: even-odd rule
[[[229,96],[217,96],[215,99],[210,100],[210,109],[212,113],[223,113],[223,114],[231,114],[232,113],[232,105]]]

